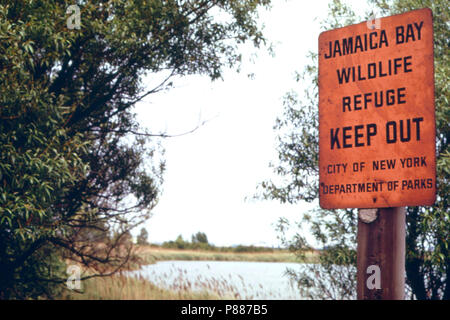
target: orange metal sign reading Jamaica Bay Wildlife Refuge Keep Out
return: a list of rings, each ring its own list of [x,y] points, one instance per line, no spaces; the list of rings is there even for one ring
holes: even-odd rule
[[[433,63],[430,9],[320,34],[322,208],[434,203]]]

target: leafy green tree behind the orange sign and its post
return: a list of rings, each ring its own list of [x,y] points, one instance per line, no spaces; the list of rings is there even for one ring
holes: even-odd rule
[[[406,216],[406,283],[410,297],[416,299],[450,299],[450,107],[449,107],[449,7],[446,1],[371,0],[373,12],[356,18],[341,3],[330,4],[325,29],[334,29],[369,17],[387,16],[429,7],[433,11],[435,36],[436,127],[437,127],[437,201],[433,207],[408,207]],[[295,91],[284,98],[284,113],[277,119],[279,163],[271,164],[285,183],[265,181],[264,198],[296,203],[312,202],[318,197],[318,91],[317,53],[297,81],[304,85],[304,96]],[[323,250],[318,265],[304,267],[303,272],[289,271],[305,297],[350,299],[356,292],[356,210],[321,210],[305,213],[299,229],[310,227]],[[293,239],[285,236],[289,222],[281,219],[281,238],[300,256],[311,244],[298,232]],[[304,230],[304,229],[303,229]]]

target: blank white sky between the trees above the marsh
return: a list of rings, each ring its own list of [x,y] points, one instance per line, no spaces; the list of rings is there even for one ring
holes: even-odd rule
[[[319,21],[328,2],[274,0],[260,21],[275,44],[275,57],[258,51],[254,63],[243,63],[241,73],[227,70],[223,81],[215,82],[186,77],[137,106],[140,123],[152,132],[177,134],[196,127],[199,119],[211,119],[192,134],[162,141],[167,165],[163,193],[144,225],[150,242],[175,240],[179,234],[190,240],[201,231],[218,246],[278,246],[276,221],[299,220],[312,208],[245,198],[255,194],[258,183],[274,177],[268,167],[277,159],[273,125],[282,114],[283,95],[298,88],[294,72],[308,63],[308,51],[317,50]],[[360,0],[347,2],[364,7]],[[249,73],[255,74],[253,80]]]

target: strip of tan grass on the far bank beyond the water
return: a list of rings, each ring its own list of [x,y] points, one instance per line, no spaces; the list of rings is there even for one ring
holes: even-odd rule
[[[140,246],[137,254],[143,264],[152,264],[164,260],[212,260],[212,261],[253,261],[253,262],[299,262],[298,258],[287,250],[274,250],[272,252],[217,252],[204,250],[177,250],[165,249],[155,246]],[[317,253],[306,255],[306,263],[317,261]]]

